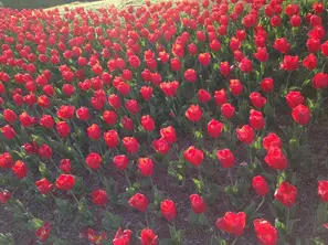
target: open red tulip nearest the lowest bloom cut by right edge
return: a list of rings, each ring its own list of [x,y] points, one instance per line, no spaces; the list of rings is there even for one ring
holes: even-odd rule
[[[275,200],[283,203],[285,206],[290,207],[295,204],[297,198],[297,189],[284,181],[275,191]]]

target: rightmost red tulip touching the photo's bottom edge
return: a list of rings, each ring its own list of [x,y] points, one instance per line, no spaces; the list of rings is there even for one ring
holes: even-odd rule
[[[269,222],[264,219],[256,219],[253,224],[261,245],[276,245],[278,243],[277,230]]]

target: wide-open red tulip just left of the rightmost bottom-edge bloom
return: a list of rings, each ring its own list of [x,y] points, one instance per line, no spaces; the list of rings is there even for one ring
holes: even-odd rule
[[[223,217],[218,219],[215,225],[224,232],[241,236],[246,225],[246,214],[244,212],[226,212]]]

